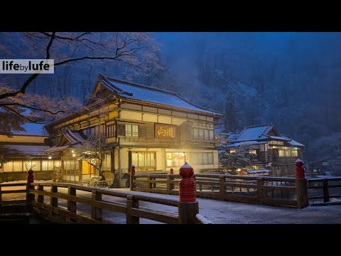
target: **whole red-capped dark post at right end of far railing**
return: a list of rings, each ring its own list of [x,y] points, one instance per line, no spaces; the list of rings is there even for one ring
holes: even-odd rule
[[[296,201],[297,208],[305,208],[309,206],[309,198],[308,198],[308,183],[307,179],[304,175],[303,161],[301,159],[297,159],[295,161],[296,165]]]

